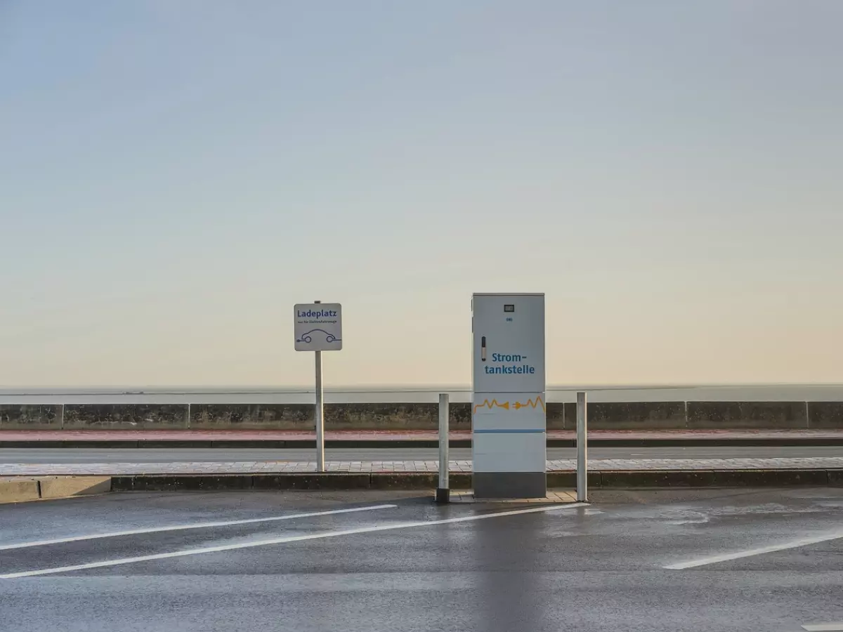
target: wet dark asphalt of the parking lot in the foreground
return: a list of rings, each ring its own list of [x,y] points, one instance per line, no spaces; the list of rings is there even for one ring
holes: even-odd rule
[[[0,546],[395,506],[0,549],[2,575],[110,564],[0,579],[0,629],[766,632],[843,621],[843,489],[598,491],[592,501],[411,526],[540,506],[436,506],[417,493],[372,491],[4,505]],[[663,568],[816,536],[833,539]],[[180,554],[235,545],[245,548]],[[177,555],[111,565],[165,553]]]

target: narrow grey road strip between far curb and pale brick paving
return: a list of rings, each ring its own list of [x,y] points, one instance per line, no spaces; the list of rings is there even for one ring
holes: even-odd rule
[[[577,458],[577,449],[550,447],[548,459]],[[337,448],[325,450],[329,461],[431,461],[438,459],[436,448],[384,447]],[[593,459],[605,458],[808,458],[843,457],[843,446],[787,447],[595,447],[588,450]],[[452,448],[452,460],[470,459],[470,448]],[[312,449],[252,448],[3,448],[0,463],[180,463],[225,461],[312,461]]]

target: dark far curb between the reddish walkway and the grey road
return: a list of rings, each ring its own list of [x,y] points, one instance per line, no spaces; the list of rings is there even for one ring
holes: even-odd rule
[[[470,439],[452,439],[448,442],[449,447],[471,447]],[[589,447],[787,447],[787,446],[843,446],[843,437],[738,437],[729,439],[715,437],[704,439],[699,437],[647,437],[647,438],[614,438],[601,439],[594,437],[588,439]],[[313,439],[112,439],[83,441],[78,439],[44,441],[4,441],[0,438],[0,448],[3,447],[35,447],[51,449],[57,447],[67,448],[299,448],[314,449],[316,442]],[[326,448],[356,447],[356,448],[389,448],[389,447],[439,447],[439,442],[434,439],[327,439]],[[548,439],[547,447],[577,447],[575,439]]]

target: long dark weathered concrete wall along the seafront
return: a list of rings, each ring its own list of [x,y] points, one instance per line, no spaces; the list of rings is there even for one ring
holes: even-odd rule
[[[452,430],[470,430],[471,406],[450,406]],[[551,430],[577,427],[577,407],[547,404]],[[843,402],[602,402],[595,430],[843,429]],[[314,427],[311,404],[0,404],[3,430],[288,429]],[[434,430],[438,404],[325,404],[330,430]]]

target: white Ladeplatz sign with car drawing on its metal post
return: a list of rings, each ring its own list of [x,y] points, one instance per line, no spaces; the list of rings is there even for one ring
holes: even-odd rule
[[[316,366],[316,471],[325,471],[325,397],[322,390],[322,351],[342,349],[342,306],[340,303],[298,303],[295,306],[296,351],[314,351]]]

